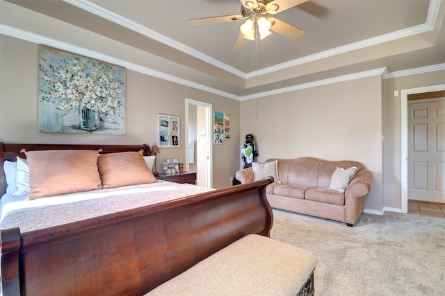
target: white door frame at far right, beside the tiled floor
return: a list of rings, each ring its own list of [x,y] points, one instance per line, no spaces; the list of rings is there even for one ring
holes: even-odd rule
[[[431,85],[401,91],[401,204],[402,213],[408,212],[408,95],[445,90],[445,85]]]

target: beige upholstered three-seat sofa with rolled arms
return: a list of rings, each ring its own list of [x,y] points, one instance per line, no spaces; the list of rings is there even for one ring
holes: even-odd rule
[[[362,215],[364,198],[372,184],[371,171],[359,162],[326,161],[314,157],[296,159],[268,159],[266,163],[277,160],[277,182],[266,188],[270,206],[300,214],[337,220],[352,227]],[[268,164],[270,165],[270,164]],[[338,168],[357,167],[357,173],[341,193],[329,189],[331,178],[341,173]],[[257,175],[259,175],[259,164]],[[254,170],[245,168],[236,172],[241,184],[254,181]],[[280,183],[278,183],[280,182]],[[340,190],[341,191],[341,190]]]

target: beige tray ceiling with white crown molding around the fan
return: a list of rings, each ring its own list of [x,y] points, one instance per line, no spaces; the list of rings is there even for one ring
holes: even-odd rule
[[[142,49],[156,71],[241,97],[445,62],[439,0],[309,0],[275,15],[306,31],[299,40],[273,32],[235,51],[242,21],[194,27],[188,20],[238,15],[239,0],[7,1]]]

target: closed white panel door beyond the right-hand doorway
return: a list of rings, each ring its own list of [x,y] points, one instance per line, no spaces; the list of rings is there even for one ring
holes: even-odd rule
[[[408,102],[408,199],[445,202],[445,98]]]

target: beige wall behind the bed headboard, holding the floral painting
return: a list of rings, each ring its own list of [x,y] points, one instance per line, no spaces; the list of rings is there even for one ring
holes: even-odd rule
[[[38,132],[38,44],[0,35],[0,141],[22,143],[126,143],[152,146],[156,143],[156,114],[174,114],[185,119],[185,98],[211,103],[213,110],[230,114],[232,139],[214,145],[213,187],[229,184],[238,169],[234,151],[239,143],[239,102],[191,87],[127,70],[127,134],[68,134]],[[181,148],[161,148],[162,159],[177,157],[186,162],[185,125],[181,129]]]

